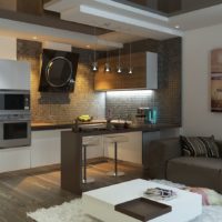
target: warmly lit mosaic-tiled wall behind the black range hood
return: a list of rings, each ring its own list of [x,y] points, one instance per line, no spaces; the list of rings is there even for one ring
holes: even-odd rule
[[[77,50],[80,62],[73,93],[40,93],[40,42],[18,40],[18,60],[31,63],[31,113],[33,122],[64,123],[73,121],[80,114],[90,114],[94,118],[104,118],[105,94],[93,91],[93,73],[90,71],[89,52]]]

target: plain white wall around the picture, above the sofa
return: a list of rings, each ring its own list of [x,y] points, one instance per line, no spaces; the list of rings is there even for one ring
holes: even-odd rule
[[[210,111],[210,53],[222,48],[222,24],[189,31],[183,39],[183,133],[222,139],[222,113]]]

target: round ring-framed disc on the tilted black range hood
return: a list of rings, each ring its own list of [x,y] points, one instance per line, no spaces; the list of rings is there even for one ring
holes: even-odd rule
[[[46,68],[46,78],[51,87],[64,87],[72,78],[71,62],[64,57],[51,59]]]

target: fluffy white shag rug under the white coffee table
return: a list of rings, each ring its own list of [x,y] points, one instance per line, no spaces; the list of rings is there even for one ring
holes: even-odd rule
[[[169,181],[154,180],[167,185],[183,188],[184,185],[171,183]],[[83,213],[81,199],[65,202],[61,205],[50,209],[40,209],[32,213],[27,213],[28,216],[37,222],[98,222]],[[222,206],[203,206],[203,213],[191,222],[221,222]]]

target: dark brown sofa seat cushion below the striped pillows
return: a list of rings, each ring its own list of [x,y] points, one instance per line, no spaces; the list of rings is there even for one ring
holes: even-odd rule
[[[221,169],[221,159],[181,157],[168,161],[167,179],[220,191]]]

